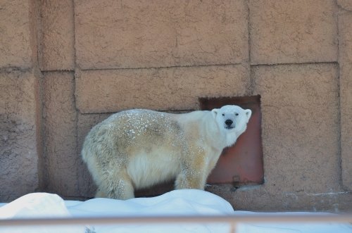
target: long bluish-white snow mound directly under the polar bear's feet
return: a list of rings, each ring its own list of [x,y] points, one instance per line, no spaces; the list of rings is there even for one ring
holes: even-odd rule
[[[82,216],[165,216],[165,215],[232,215],[230,203],[206,191],[182,189],[153,198],[127,201],[92,199],[84,202],[67,201],[68,210],[75,217]],[[229,232],[228,224],[165,224],[95,226],[95,232]]]

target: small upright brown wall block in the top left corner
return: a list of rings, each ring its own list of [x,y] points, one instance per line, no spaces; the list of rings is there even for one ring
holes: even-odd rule
[[[30,1],[0,1],[0,68],[30,68]]]

